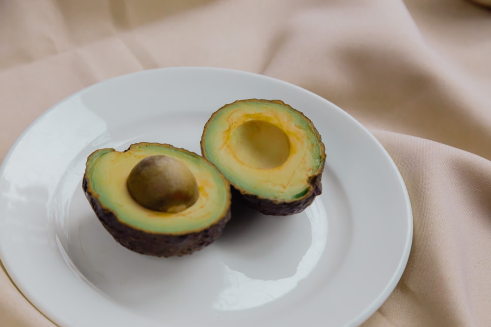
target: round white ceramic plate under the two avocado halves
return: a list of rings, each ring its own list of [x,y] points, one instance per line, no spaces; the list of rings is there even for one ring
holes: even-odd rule
[[[314,122],[322,196],[288,217],[235,207],[222,237],[186,257],[118,245],[82,193],[87,156],[140,141],[199,153],[211,113],[248,98]],[[42,115],[2,164],[1,260],[60,326],[356,326],[396,286],[411,240],[409,197],[380,143],[332,103],[262,75],[170,68],[96,84]]]

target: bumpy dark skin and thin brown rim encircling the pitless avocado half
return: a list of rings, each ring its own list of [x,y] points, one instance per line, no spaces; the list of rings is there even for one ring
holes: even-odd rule
[[[322,142],[321,135],[317,128],[314,126],[312,121],[306,117],[301,111],[291,107],[290,105],[286,104],[285,102],[281,100],[263,100],[263,99],[248,99],[248,100],[238,100],[229,104],[225,104],[223,107],[219,108],[217,111],[215,111],[212,116],[208,119],[208,122],[205,124],[204,129],[203,129],[203,134],[201,136],[201,154],[207,158],[206,154],[206,149],[204,146],[204,137],[206,134],[206,129],[210,124],[212,124],[213,119],[215,115],[218,114],[218,112],[230,105],[233,105],[237,102],[241,101],[259,101],[259,102],[275,102],[275,103],[280,103],[284,106],[289,107],[290,109],[296,111],[299,113],[304,119],[307,120],[309,123],[310,128],[314,132],[314,134],[317,136],[317,140],[319,142],[319,145],[321,147],[321,163],[316,170],[316,172],[310,176],[309,178],[309,189],[306,192],[305,195],[303,195],[301,198],[292,200],[292,201],[272,201],[269,199],[264,199],[261,198],[257,195],[247,193],[246,191],[242,190],[239,185],[235,185],[233,183],[231,184],[231,192],[232,192],[232,201],[241,201],[245,203],[247,206],[265,214],[265,215],[273,215],[273,216],[289,216],[293,215],[296,213],[300,213],[303,210],[305,210],[312,202],[315,200],[315,197],[318,195],[322,194],[322,173],[324,171],[324,166],[326,164],[326,153],[325,153],[325,145]]]

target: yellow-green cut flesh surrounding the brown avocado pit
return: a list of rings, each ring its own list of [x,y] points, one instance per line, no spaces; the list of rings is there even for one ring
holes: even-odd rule
[[[147,209],[127,188],[127,178],[136,164],[151,155],[180,160],[196,178],[198,200],[177,213]],[[229,186],[216,168],[197,154],[157,144],[139,144],[125,152],[103,149],[87,161],[88,191],[111,210],[119,221],[154,233],[183,234],[200,231],[222,218],[229,200]]]

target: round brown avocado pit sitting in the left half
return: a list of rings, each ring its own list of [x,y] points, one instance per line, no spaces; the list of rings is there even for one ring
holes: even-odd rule
[[[176,213],[198,200],[198,184],[181,161],[152,155],[139,161],[127,180],[130,195],[141,206]]]

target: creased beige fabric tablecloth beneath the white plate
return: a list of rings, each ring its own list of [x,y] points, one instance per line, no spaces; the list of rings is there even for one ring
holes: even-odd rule
[[[491,326],[491,11],[464,0],[0,1],[0,158],[116,75],[270,75],[369,127],[409,189],[413,248],[364,327]],[[0,272],[0,326],[53,326]]]

